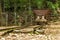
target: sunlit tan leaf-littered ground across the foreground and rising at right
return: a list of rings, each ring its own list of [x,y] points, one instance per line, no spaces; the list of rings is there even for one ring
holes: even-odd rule
[[[21,29],[20,31],[26,32],[30,30],[33,30],[32,26]],[[0,36],[0,40],[60,40],[60,22],[46,25],[45,34],[9,33],[6,36]]]

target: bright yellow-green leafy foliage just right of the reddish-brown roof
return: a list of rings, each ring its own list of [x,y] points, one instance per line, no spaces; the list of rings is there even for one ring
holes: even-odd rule
[[[53,17],[58,17],[58,14],[57,14],[57,9],[59,8],[58,2],[52,3],[50,1],[47,1],[47,5],[48,5],[48,8],[52,10],[52,14],[51,15]]]

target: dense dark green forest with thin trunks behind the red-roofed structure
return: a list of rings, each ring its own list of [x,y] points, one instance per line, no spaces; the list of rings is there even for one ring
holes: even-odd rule
[[[27,25],[34,23],[33,10],[60,8],[60,0],[0,0],[0,26]],[[54,16],[59,14],[55,14]]]

